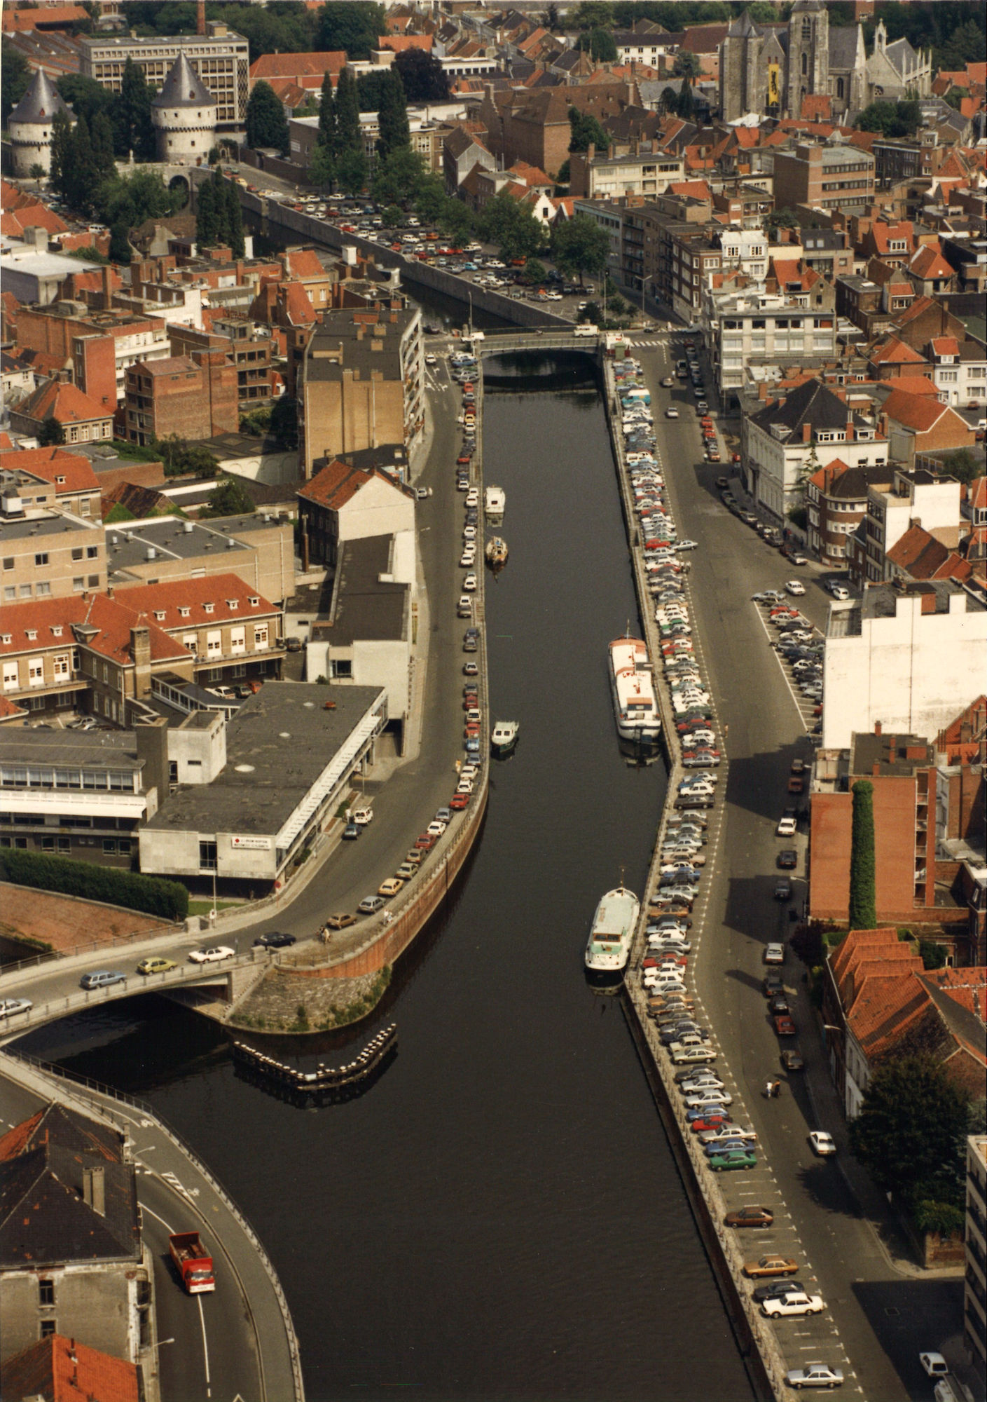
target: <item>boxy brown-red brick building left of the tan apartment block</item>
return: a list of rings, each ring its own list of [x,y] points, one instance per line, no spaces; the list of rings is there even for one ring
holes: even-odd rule
[[[206,439],[240,428],[237,367],[223,349],[139,362],[126,372],[126,436]]]

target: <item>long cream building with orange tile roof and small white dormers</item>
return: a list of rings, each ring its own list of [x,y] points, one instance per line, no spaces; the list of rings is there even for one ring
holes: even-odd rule
[[[32,712],[144,714],[151,677],[202,687],[278,676],[282,617],[237,575],[137,585],[4,607],[3,695]]]

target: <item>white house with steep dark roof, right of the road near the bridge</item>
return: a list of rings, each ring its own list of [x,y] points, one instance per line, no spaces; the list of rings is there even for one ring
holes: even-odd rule
[[[868,395],[806,380],[742,421],[742,474],[754,501],[782,519],[801,505],[802,484],[820,467],[883,467],[887,439]]]

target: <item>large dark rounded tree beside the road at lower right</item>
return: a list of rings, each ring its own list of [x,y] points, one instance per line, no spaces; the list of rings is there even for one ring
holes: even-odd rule
[[[908,1203],[955,1202],[967,1103],[931,1056],[896,1057],[873,1071],[851,1147],[885,1192]]]

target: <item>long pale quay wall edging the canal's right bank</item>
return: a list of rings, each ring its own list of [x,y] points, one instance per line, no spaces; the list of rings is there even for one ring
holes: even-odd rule
[[[641,960],[644,959],[645,925],[648,923],[646,896],[658,887],[659,868],[662,865],[660,851],[665,841],[667,819],[674,809],[679,782],[687,771],[681,765],[681,746],[679,743],[679,733],[674,725],[672,695],[665,679],[665,670],[662,667],[662,639],[655,622],[655,603],[648,593],[648,579],[644,568],[644,543],[639,537],[638,522],[634,513],[634,499],[627,475],[624,439],[621,433],[620,394],[617,391],[613,366],[614,362],[604,358],[604,400],[610,422],[610,436],[614,451],[614,463],[617,465],[621,503],[628,529],[629,558],[638,594],[638,607],[641,610],[641,624],[644,628],[645,642],[648,644],[648,653],[655,667],[655,693],[662,712],[662,735],[669,765],[669,785],[665,806],[662,809],[655,837],[655,850],[648,871],[645,899],[641,901],[641,920],[627,966],[629,973],[631,970],[638,969],[641,966]],[[660,461],[660,453],[658,453],[656,457],[662,475],[665,477],[666,502],[669,509],[672,509],[669,491],[670,474],[667,472],[666,464],[662,464]],[[701,665],[700,639],[697,638],[694,611],[691,637],[697,660]],[[722,733],[722,728],[719,729]],[[721,802],[722,794],[726,788],[725,760],[721,764],[718,774],[718,802]],[[712,810],[709,809],[707,812]],[[708,862],[715,861],[715,850],[711,850],[708,852]],[[709,866],[705,869],[708,872]],[[648,1084],[651,1085],[652,1095],[655,1096],[658,1112],[669,1137],[669,1144],[674,1154],[683,1185],[688,1195],[693,1214],[695,1217],[700,1235],[702,1237],[702,1244],[707,1249],[707,1255],[709,1256],[721,1295],[737,1338],[742,1357],[747,1364],[751,1382],[758,1398],[777,1399],[777,1402],[782,1402],[782,1399],[788,1395],[788,1389],[784,1382],[785,1361],[778,1349],[774,1332],[767,1321],[758,1314],[750,1295],[740,1286],[743,1279],[742,1267],[744,1256],[740,1246],[733,1239],[733,1235],[723,1227],[726,1206],[714,1175],[707,1168],[702,1150],[695,1141],[695,1136],[684,1131],[677,1113],[679,1096],[676,1094],[672,1066],[665,1047],[662,1047],[659,1042],[655,1023],[648,1016],[645,993],[639,981],[625,977],[622,1005],[641,1063],[648,1077]]]

